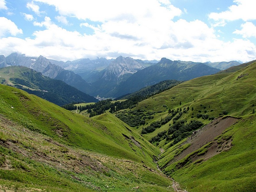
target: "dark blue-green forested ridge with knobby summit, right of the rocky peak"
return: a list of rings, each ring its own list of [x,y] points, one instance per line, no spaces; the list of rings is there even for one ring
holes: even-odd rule
[[[125,95],[160,81],[168,79],[186,81],[219,71],[220,69],[209,67],[203,63],[189,62],[185,64],[180,61],[162,58],[157,64],[134,73],[126,81],[121,82],[110,94],[115,96]]]

